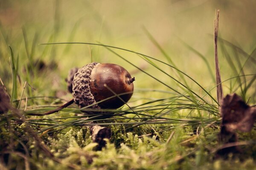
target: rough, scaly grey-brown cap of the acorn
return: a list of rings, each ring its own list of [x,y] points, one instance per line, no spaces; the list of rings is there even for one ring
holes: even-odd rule
[[[74,102],[79,105],[79,108],[83,108],[88,105],[92,105],[96,103],[93,94],[90,92],[89,84],[90,84],[90,74],[92,69],[99,64],[98,62],[93,62],[84,67],[79,68],[77,73],[74,76],[72,82],[72,94],[74,98]],[[99,105],[93,105],[90,108],[100,108]]]

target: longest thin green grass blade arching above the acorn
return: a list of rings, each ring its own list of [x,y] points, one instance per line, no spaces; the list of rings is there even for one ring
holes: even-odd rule
[[[174,66],[172,65],[169,65],[168,63],[166,62],[163,62],[161,61],[160,59],[156,59],[156,58],[153,58],[153,57],[150,57],[148,55],[145,55],[145,54],[141,54],[141,53],[138,53],[138,52],[135,52],[135,51],[132,51],[132,50],[128,50],[128,49],[125,49],[125,48],[119,48],[119,47],[114,47],[114,46],[111,46],[111,45],[104,45],[104,44],[96,44],[96,43],[90,43],[90,42],[52,42],[52,43],[43,43],[43,44],[40,44],[40,45],[53,45],[53,44],[88,44],[88,45],[99,45],[99,46],[103,46],[103,47],[108,47],[108,48],[115,48],[115,49],[119,49],[119,50],[123,50],[123,51],[128,51],[128,52],[131,52],[131,53],[134,53],[134,54],[139,54],[139,55],[142,55],[144,57],[148,57],[150,59],[153,59],[157,62],[160,62],[160,63],[163,63],[165,65],[168,65],[169,67],[171,68],[174,68],[175,70],[177,70],[178,72],[180,72],[181,74],[185,75],[186,77],[188,77],[189,79],[191,79],[193,82],[195,82],[200,88],[202,88],[203,91],[205,91],[211,98],[214,102],[217,102],[217,100],[211,95],[208,93],[208,91],[206,89],[204,89],[198,82],[195,81],[195,79],[192,79],[192,77],[190,77],[188,74],[184,73],[183,71],[175,68]],[[142,69],[138,68],[140,71],[142,71]]]

